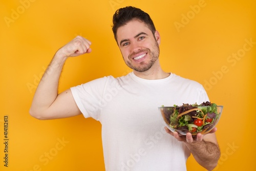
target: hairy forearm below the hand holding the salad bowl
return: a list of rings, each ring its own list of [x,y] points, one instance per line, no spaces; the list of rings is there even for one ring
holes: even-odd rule
[[[195,160],[207,170],[212,170],[217,166],[220,158],[220,148],[218,144],[203,140],[186,143],[186,146]]]

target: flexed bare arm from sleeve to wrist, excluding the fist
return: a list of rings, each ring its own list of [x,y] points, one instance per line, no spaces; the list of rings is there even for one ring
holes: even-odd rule
[[[76,116],[80,111],[71,90],[58,94],[58,82],[64,61],[54,56],[36,89],[30,115],[37,119],[57,119]]]

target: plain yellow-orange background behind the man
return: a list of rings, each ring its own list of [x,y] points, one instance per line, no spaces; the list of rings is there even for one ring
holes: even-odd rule
[[[222,155],[215,170],[256,170],[254,0],[1,0],[0,170],[104,170],[99,122],[83,116],[40,121],[28,111],[52,56],[76,35],[91,40],[93,52],[68,59],[60,92],[131,71],[111,30],[113,13],[127,5],[152,16],[161,35],[163,69],[200,82],[212,102],[224,105],[217,126]],[[3,162],[5,115],[8,167]],[[187,167],[205,170],[193,157]]]

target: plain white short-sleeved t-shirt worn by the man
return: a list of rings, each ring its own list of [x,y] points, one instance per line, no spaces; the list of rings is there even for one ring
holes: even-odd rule
[[[190,152],[165,132],[158,107],[209,101],[201,84],[175,74],[147,80],[132,72],[99,78],[71,91],[84,117],[102,124],[106,170],[186,170]]]

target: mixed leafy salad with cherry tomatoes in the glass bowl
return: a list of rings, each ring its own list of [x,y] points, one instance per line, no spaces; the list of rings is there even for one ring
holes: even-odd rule
[[[170,129],[177,132],[208,133],[217,123],[220,113],[217,111],[217,104],[209,101],[201,104],[184,104],[181,106],[166,107],[162,111],[166,123]]]

